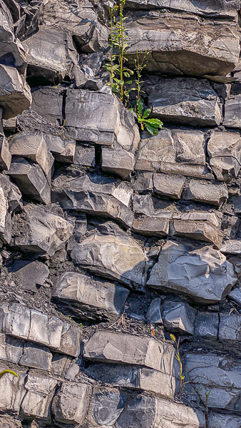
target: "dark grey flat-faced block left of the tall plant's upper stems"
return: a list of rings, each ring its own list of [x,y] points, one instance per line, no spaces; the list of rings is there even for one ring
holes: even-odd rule
[[[54,84],[66,75],[66,34],[60,29],[39,26],[23,41],[29,76],[43,76]]]

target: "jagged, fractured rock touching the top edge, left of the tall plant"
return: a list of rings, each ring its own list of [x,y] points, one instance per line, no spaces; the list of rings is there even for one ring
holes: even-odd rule
[[[99,52],[108,44],[108,29],[98,20],[89,1],[68,4],[64,0],[50,0],[43,17],[46,26],[71,34],[81,52]]]

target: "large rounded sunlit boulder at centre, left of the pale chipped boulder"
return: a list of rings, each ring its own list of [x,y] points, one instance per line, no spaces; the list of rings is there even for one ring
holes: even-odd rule
[[[147,260],[143,249],[111,222],[101,230],[103,233],[93,231],[76,244],[71,252],[73,262],[123,284],[141,287]]]

